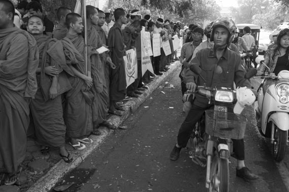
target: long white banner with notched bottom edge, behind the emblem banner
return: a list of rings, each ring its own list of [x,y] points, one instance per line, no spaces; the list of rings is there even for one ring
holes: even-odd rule
[[[141,43],[141,72],[143,76],[144,73],[147,72],[147,70],[154,73],[153,65],[151,63],[150,48],[149,48],[149,45],[151,45],[150,32],[141,30],[140,38],[141,38],[141,42],[140,42]]]

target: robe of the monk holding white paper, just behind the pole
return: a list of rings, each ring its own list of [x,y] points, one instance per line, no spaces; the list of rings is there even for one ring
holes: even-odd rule
[[[92,50],[98,49],[102,46],[102,41],[96,31],[91,26],[87,29],[88,46]],[[100,57],[104,57],[103,54],[93,54],[91,58],[91,78],[93,79],[93,86],[91,88],[95,97],[92,104],[92,122],[94,128],[97,128],[100,123],[106,119],[106,114],[109,106],[107,98],[109,98],[108,86],[105,80],[105,62],[101,61]],[[103,58],[102,58],[103,60]]]

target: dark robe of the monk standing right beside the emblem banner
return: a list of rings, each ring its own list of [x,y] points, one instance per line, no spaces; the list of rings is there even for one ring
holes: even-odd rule
[[[110,78],[110,99],[120,101],[126,94],[126,76],[123,56],[125,55],[123,35],[121,26],[115,23],[110,29],[107,37],[108,46],[115,69],[111,69]]]

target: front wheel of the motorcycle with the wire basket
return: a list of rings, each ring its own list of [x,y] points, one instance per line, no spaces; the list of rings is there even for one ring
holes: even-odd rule
[[[209,192],[229,191],[229,160],[214,156],[211,163]]]

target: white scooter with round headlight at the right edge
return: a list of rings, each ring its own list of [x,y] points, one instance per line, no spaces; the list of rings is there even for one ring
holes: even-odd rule
[[[289,71],[255,78],[264,78],[254,103],[257,127],[261,135],[271,139],[273,157],[280,162],[285,156],[289,130]]]

